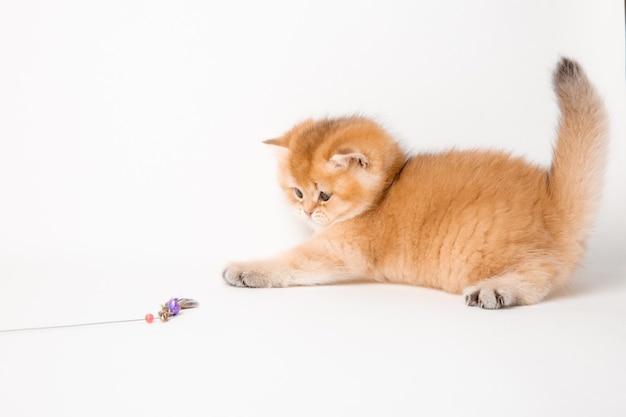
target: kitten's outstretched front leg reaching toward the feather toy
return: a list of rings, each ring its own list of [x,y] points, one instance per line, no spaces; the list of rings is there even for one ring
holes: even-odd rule
[[[320,285],[365,278],[357,251],[344,244],[312,239],[272,259],[235,262],[222,277],[235,287]],[[347,261],[349,260],[349,264]]]

